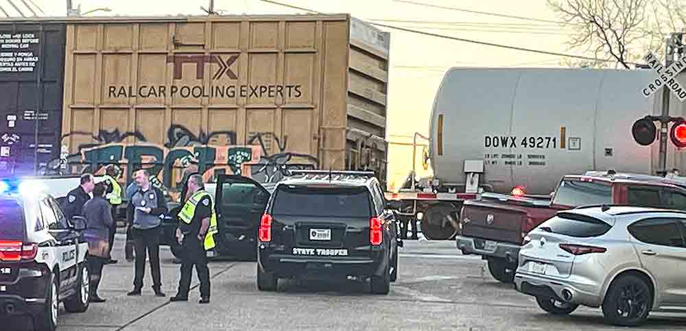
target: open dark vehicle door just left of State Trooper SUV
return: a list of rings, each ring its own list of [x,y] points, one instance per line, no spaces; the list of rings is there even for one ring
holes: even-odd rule
[[[239,175],[217,177],[215,211],[218,253],[239,258],[257,258],[257,230],[271,195],[270,188]]]

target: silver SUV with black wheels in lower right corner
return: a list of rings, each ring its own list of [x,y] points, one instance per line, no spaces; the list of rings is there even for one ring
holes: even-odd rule
[[[686,212],[589,206],[558,212],[532,230],[514,282],[543,310],[601,307],[637,326],[651,311],[686,312]]]

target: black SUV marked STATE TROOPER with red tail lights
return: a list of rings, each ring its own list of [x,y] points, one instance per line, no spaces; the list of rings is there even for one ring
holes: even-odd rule
[[[402,242],[374,174],[293,173],[276,184],[261,217],[257,288],[276,291],[279,278],[352,276],[387,294]]]

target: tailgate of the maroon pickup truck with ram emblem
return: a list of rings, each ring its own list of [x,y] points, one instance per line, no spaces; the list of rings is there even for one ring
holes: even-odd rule
[[[461,217],[462,236],[521,243],[522,225],[527,213],[514,206],[469,201],[462,207]]]

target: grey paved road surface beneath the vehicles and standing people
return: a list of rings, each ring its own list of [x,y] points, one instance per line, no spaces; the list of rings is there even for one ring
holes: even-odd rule
[[[118,235],[116,247],[122,244]],[[115,254],[123,258],[121,249]],[[174,295],[178,265],[168,249],[161,255],[163,286]],[[83,314],[60,310],[59,330],[626,330],[607,326],[595,309],[551,317],[483,267],[479,258],[458,254],[452,242],[405,241],[389,295],[370,295],[357,282],[287,281],[278,293],[263,293],[255,288],[254,262],[220,261],[211,263],[212,303],[202,306],[197,289],[185,303],[154,297],[149,273],[143,296],[127,297],[133,269],[121,261],[105,267],[100,293],[108,301]],[[27,320],[0,321],[0,330],[30,328]],[[669,329],[686,329],[686,316],[652,317],[631,330]]]

